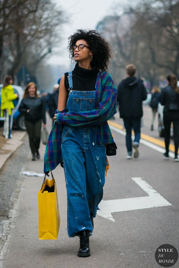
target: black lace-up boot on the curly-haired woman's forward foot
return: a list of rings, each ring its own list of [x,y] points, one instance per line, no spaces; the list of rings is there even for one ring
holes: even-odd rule
[[[78,257],[89,257],[91,255],[89,237],[90,233],[88,230],[79,232],[80,247],[77,253]]]

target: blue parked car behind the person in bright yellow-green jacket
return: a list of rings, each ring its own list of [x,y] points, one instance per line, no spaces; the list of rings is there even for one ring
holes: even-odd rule
[[[0,105],[1,105],[1,88],[3,87],[2,84],[0,84]],[[20,130],[26,130],[25,124],[24,124],[24,115],[19,113],[18,107],[21,103],[22,96],[24,94],[24,90],[22,87],[17,85],[12,85],[14,89],[14,93],[17,93],[19,95],[18,100],[14,100],[14,110],[13,110],[13,128],[18,128]],[[4,122],[4,117],[0,117],[0,122]]]

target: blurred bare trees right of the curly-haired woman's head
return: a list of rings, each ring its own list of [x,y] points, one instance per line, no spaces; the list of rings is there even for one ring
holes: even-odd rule
[[[117,10],[117,8],[116,8]],[[134,63],[138,76],[151,87],[172,72],[179,76],[179,1],[139,0],[120,15],[105,17],[97,26],[112,45],[115,82]]]

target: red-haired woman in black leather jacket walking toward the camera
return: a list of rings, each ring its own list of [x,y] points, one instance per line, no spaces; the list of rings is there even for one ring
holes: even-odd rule
[[[38,149],[40,147],[41,124],[46,127],[45,102],[37,94],[36,84],[30,82],[25,90],[19,106],[19,112],[25,116],[25,126],[29,135],[29,144],[32,152],[32,161],[40,158]]]

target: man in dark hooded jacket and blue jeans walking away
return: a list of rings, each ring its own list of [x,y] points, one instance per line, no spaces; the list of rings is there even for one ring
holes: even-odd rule
[[[138,146],[141,137],[141,117],[143,116],[142,101],[147,98],[143,81],[135,77],[136,67],[126,66],[127,78],[118,86],[117,101],[119,102],[120,117],[123,118],[126,129],[127,159],[132,158],[132,128],[135,133],[133,147],[134,158],[138,158]]]

